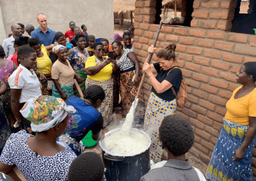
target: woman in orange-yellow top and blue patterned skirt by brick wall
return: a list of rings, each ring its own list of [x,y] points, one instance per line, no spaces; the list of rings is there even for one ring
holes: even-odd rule
[[[228,100],[223,127],[207,168],[207,180],[253,180],[256,143],[256,62],[246,62],[236,76],[238,87]]]

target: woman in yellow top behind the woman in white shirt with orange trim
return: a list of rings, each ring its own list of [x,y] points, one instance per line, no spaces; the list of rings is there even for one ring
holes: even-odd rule
[[[36,51],[36,61],[39,66],[39,68],[44,73],[44,76],[47,78],[47,80],[52,80],[51,76],[51,70],[52,70],[52,61],[49,57],[49,52],[46,50],[44,45],[41,45],[40,41],[36,38],[30,38],[28,40],[29,46],[33,48]],[[38,73],[41,73],[39,69],[36,69]],[[47,95],[47,81],[45,78],[40,79],[40,83],[42,84],[42,94]]]

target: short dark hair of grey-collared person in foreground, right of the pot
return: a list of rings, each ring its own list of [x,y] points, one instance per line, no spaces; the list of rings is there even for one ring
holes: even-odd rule
[[[182,156],[193,146],[195,135],[188,120],[177,115],[166,116],[159,127],[159,139],[174,156]]]

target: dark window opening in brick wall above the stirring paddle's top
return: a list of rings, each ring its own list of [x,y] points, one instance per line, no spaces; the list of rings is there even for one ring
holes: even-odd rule
[[[190,27],[194,0],[161,0],[157,1],[156,22],[159,24],[182,25]]]

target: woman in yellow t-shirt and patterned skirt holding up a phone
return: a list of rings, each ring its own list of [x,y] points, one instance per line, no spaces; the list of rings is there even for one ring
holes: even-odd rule
[[[116,61],[107,57],[103,57],[103,44],[96,42],[93,44],[94,55],[86,61],[86,82],[85,87],[90,85],[100,85],[105,91],[106,98],[99,108],[99,112],[104,119],[104,127],[112,120],[113,112],[113,79],[111,74],[118,69]]]

